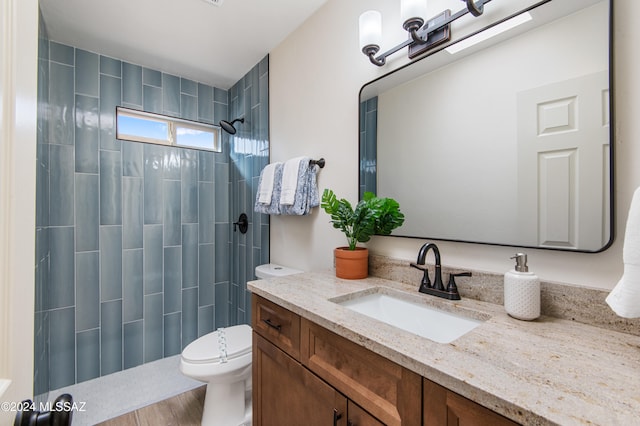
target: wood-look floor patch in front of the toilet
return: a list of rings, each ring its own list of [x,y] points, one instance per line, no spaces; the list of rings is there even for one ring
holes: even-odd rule
[[[200,426],[206,386],[123,414],[99,426]]]

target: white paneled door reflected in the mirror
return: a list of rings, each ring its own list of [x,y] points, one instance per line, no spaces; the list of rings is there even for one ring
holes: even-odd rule
[[[518,94],[518,215],[528,244],[598,250],[608,241],[608,84],[605,71]]]

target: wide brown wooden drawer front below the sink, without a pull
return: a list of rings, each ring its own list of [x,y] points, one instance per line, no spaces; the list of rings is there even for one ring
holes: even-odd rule
[[[386,425],[421,424],[422,378],[310,321],[301,320],[302,363]]]

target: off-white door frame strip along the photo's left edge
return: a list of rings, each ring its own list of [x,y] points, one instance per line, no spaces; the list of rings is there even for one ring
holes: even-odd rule
[[[0,4],[0,402],[33,393],[37,0]],[[10,381],[3,389],[4,379]],[[6,391],[6,392],[3,392]],[[14,412],[0,410],[0,424]]]

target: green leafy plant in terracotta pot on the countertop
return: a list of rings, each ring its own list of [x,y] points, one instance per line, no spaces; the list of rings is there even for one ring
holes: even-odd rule
[[[365,192],[355,208],[344,198],[325,189],[320,207],[331,216],[333,227],[347,237],[348,246],[334,250],[336,276],[347,279],[366,278],[369,274],[369,250],[357,246],[366,243],[372,235],[389,235],[404,223],[400,204],[393,198],[380,198]]]

